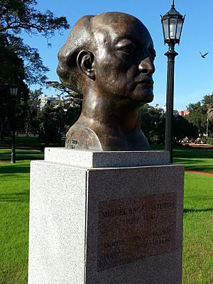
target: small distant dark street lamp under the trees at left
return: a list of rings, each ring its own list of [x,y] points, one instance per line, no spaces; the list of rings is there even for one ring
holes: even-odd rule
[[[11,92],[11,102],[12,102],[12,119],[11,119],[11,128],[12,128],[12,143],[11,143],[11,163],[16,163],[16,96],[18,93],[18,84],[12,80],[10,83],[10,92]]]

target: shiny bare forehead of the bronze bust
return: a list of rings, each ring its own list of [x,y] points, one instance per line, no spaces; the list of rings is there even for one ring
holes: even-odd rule
[[[126,13],[102,13],[92,18],[92,33],[102,33],[103,38],[112,40],[122,37],[152,40],[146,26],[138,18]]]

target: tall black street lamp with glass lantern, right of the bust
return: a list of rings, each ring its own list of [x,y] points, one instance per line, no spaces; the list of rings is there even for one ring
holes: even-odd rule
[[[161,15],[160,15],[161,16]],[[174,104],[174,67],[175,43],[180,43],[180,35],[185,16],[175,10],[174,0],[168,13],[161,16],[164,44],[168,43],[167,87],[166,87],[166,117],[165,117],[165,150],[170,152],[170,163],[173,163],[173,104]]]

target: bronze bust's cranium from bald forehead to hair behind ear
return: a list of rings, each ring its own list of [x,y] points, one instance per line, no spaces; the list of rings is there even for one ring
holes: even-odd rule
[[[119,12],[101,13],[96,16],[80,18],[72,28],[65,45],[58,53],[58,76],[63,84],[78,93],[83,93],[82,70],[77,64],[77,58],[82,50],[89,50],[89,56],[97,53],[97,48],[114,40],[114,34],[124,36],[137,33],[138,26],[145,33],[148,30],[137,18]],[[102,52],[102,50],[99,50]],[[93,60],[93,58],[92,58]],[[94,76],[91,75],[90,79]]]

